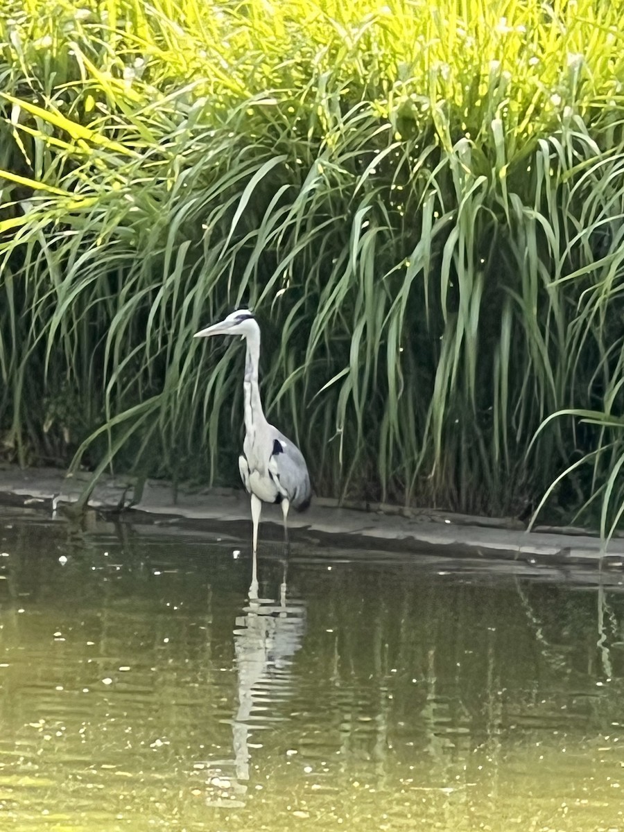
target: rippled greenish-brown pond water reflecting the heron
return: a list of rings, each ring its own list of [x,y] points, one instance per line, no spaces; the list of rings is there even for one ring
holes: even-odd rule
[[[624,830],[621,569],[262,537],[0,512],[2,832]]]

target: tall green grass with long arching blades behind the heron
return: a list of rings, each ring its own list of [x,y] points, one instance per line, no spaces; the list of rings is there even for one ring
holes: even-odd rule
[[[623,11],[2,12],[5,453],[229,482],[242,354],[191,334],[245,303],[319,492],[518,512],[593,453],[580,508],[624,458]]]

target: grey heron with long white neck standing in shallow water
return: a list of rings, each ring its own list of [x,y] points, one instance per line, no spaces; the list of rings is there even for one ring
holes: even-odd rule
[[[284,517],[284,537],[288,544],[290,506],[303,511],[310,505],[312,488],[305,459],[295,443],[268,423],[262,409],[258,368],[260,364],[260,326],[250,310],[236,310],[218,324],[200,329],[195,338],[211,335],[241,335],[247,346],[245,356],[245,440],[238,458],[240,478],[251,499],[253,534],[252,587],[257,592],[256,550],[262,503],[280,503]]]

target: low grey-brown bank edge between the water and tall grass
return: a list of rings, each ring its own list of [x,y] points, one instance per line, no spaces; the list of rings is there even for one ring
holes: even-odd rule
[[[32,505],[52,512],[57,498],[59,508],[72,505],[80,497],[88,475],[67,478],[54,468],[0,467],[0,503]],[[249,523],[250,510],[246,494],[230,489],[178,490],[174,494],[166,483],[149,481],[141,498],[131,504],[133,488],[127,478],[102,477],[89,499],[89,507],[102,512],[118,512],[124,508],[129,518],[141,516],[163,522],[166,518],[183,518],[187,524],[201,527],[226,527],[232,523]],[[281,526],[277,506],[265,506],[262,515],[267,535],[275,537]],[[551,531],[537,529],[527,532],[518,522],[505,519],[469,518],[452,513],[428,510],[409,513],[393,507],[339,507],[334,500],[316,499],[303,513],[291,513],[289,525],[294,537],[331,540],[336,545],[375,549],[401,549],[414,553],[469,554],[472,557],[532,557],[549,561],[598,562],[607,556],[612,566],[624,558],[624,540],[608,543],[606,552],[599,537],[575,533],[576,530]]]

